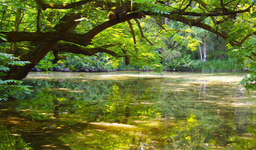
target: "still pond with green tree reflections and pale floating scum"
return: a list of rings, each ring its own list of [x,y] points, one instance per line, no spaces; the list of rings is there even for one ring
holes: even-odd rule
[[[0,101],[0,149],[255,149],[256,92],[244,74],[31,72]]]

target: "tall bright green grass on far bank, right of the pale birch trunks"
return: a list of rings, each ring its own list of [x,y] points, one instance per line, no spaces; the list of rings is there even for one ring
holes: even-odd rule
[[[197,66],[197,70],[201,71],[244,71],[243,67],[229,60],[207,60]]]

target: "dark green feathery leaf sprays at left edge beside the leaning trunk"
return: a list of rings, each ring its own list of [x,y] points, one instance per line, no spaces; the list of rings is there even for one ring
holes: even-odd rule
[[[0,58],[0,77],[6,75],[5,72],[9,71],[10,65],[24,66],[30,63],[19,61],[18,58],[10,54],[0,53]],[[21,84],[22,81],[20,80],[2,80],[0,78],[0,100],[8,100],[9,95],[22,98],[24,97],[23,93],[30,94],[31,90],[29,90],[29,87],[31,86],[23,86]]]

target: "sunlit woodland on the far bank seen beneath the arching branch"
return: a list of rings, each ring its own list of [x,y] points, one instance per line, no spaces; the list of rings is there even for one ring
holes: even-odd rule
[[[210,22],[210,20],[208,20]],[[139,20],[143,35],[152,44],[146,47],[156,52],[162,70],[166,71],[247,71],[247,63],[239,66],[230,59],[226,40],[212,32],[198,27],[189,27],[184,23],[173,21],[165,17],[150,17]],[[131,20],[133,32],[137,40],[141,40],[140,28],[136,20]],[[132,39],[128,23],[120,24],[120,29],[130,34],[125,38]],[[102,35],[102,40],[112,39],[113,35]],[[120,35],[114,33],[114,36]],[[120,38],[121,39],[121,38]],[[118,39],[115,39],[118,40]],[[152,41],[152,42],[151,42]],[[147,45],[147,43],[143,43]],[[144,45],[140,45],[144,48]],[[122,59],[109,59],[103,52],[97,55],[84,56],[61,52],[65,59],[53,63],[54,55],[49,53],[34,68],[33,71],[123,71],[123,70],[154,70],[155,66],[132,61],[125,65]]]

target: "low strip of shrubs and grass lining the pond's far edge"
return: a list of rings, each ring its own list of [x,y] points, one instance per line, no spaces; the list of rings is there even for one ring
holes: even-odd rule
[[[194,60],[197,62],[198,60]],[[80,67],[80,68],[79,68]],[[47,69],[45,69],[47,68]],[[91,65],[88,67],[78,66],[74,64],[57,64],[51,67],[40,67],[35,66],[31,71],[60,71],[60,72],[114,72],[114,71],[154,71],[150,66],[134,66],[120,63],[119,66],[114,68],[113,66],[98,64],[98,65]],[[190,65],[182,64],[176,67],[167,67],[163,65],[162,71],[168,72],[248,72],[249,70],[246,66],[238,66],[236,63],[232,63],[229,60],[208,60],[206,62],[197,63],[197,65]]]

